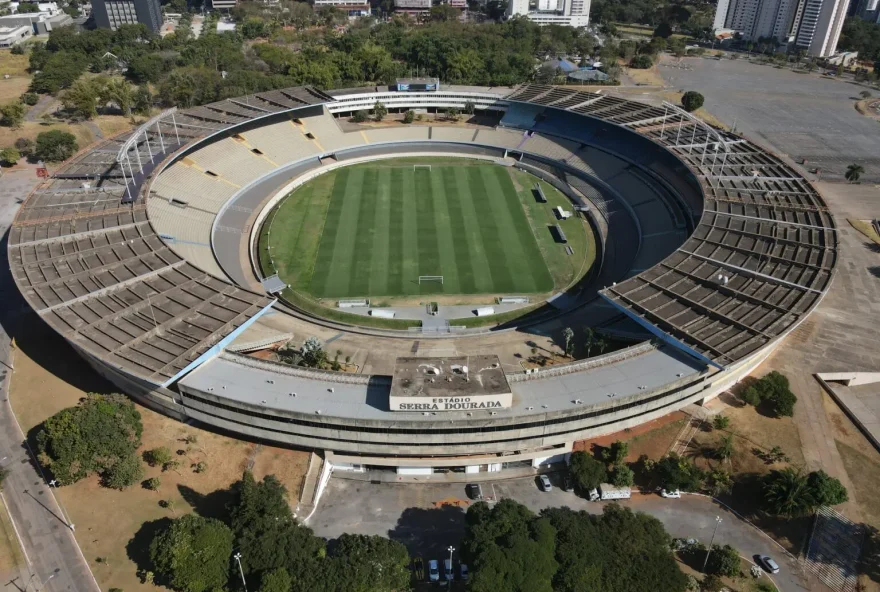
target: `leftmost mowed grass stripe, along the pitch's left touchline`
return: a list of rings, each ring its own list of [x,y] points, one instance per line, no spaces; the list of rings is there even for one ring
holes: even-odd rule
[[[333,255],[330,258],[329,271],[324,282],[323,298],[338,298],[351,294],[351,276],[354,263],[355,235],[360,216],[360,205],[363,193],[361,187],[364,181],[364,169],[353,168],[345,178],[337,179],[337,184],[343,184],[342,198],[336,206],[340,209],[335,233],[335,244],[331,245]],[[335,189],[335,188],[334,188]],[[338,194],[334,191],[333,199],[336,201]],[[331,209],[332,204],[331,204]],[[325,235],[326,236],[326,235]],[[323,242],[323,241],[322,241]]]

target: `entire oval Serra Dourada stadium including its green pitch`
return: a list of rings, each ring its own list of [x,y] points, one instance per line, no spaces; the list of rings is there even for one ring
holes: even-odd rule
[[[426,121],[349,121],[377,102]],[[163,112],[38,186],[8,251],[144,405],[330,470],[477,473],[717,396],[821,301],[837,236],[792,166],[673,105],[401,83]],[[523,364],[566,327],[623,345]],[[254,355],[310,337],[359,362]]]

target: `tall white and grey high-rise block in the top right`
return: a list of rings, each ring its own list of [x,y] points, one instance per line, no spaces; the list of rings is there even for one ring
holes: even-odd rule
[[[849,1],[719,0],[714,27],[733,29],[746,41],[775,39],[826,57],[837,49]]]

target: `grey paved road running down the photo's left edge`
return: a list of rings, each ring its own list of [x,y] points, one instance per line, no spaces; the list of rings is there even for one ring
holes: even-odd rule
[[[3,176],[0,189],[0,257],[6,258],[9,225],[18,209],[18,201],[35,184],[33,170],[10,172]],[[10,344],[7,329],[21,307],[18,289],[12,283],[5,263],[0,266],[0,465],[9,470],[3,482],[3,496],[27,555],[18,577],[5,580],[3,590],[46,591],[100,590],[82,556],[73,533],[65,525],[63,514],[42,478],[33,457],[25,447],[9,403]],[[31,577],[33,576],[33,577]],[[40,583],[43,584],[42,588]]]

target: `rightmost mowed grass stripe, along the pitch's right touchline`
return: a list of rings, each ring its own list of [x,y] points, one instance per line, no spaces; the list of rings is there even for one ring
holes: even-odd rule
[[[493,202],[492,209],[499,218],[499,224],[510,229],[504,233],[502,239],[505,241],[504,250],[514,279],[514,289],[521,292],[552,290],[553,280],[535,242],[535,235],[510,175],[501,167],[494,167],[483,169],[483,178],[487,187],[492,188],[487,194]]]

